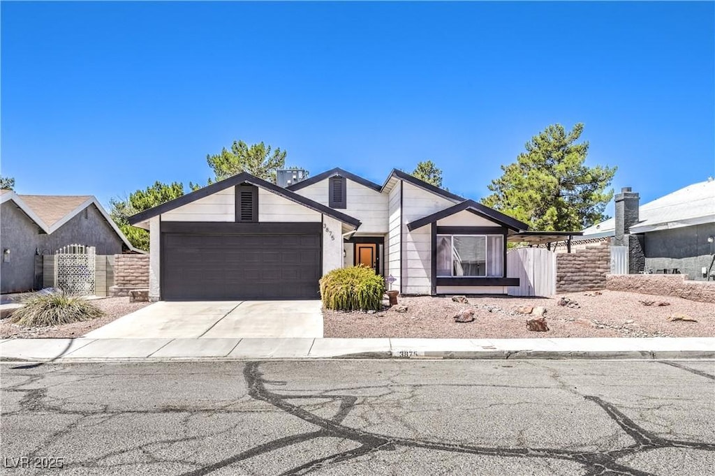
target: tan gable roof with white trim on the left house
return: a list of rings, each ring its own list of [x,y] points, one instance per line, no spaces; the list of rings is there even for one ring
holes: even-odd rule
[[[107,210],[93,195],[18,195],[11,190],[4,190],[0,199],[3,203],[9,200],[14,202],[46,234],[56,232],[79,212],[94,205],[128,249],[144,253],[132,246],[122,230],[114,223],[112,217],[109,217]]]

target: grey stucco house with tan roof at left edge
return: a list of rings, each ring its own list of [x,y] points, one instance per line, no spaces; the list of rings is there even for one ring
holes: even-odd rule
[[[97,254],[135,251],[96,198],[89,195],[0,194],[0,288],[24,292],[36,282],[36,256],[68,244],[96,248]]]

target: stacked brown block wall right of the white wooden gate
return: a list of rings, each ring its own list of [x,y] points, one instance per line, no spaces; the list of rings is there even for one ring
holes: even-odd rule
[[[611,272],[611,247],[595,244],[572,253],[556,254],[556,292],[606,289]]]

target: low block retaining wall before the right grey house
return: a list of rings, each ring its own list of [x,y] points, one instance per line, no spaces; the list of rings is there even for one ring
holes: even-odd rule
[[[608,274],[606,289],[715,302],[715,282],[690,281],[686,274]]]

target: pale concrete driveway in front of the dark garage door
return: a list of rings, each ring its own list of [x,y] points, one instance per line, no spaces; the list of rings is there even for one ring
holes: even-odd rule
[[[84,337],[322,337],[320,301],[156,302]]]

